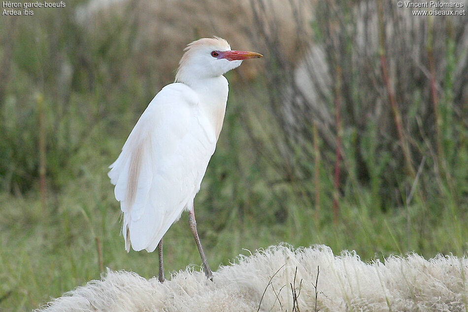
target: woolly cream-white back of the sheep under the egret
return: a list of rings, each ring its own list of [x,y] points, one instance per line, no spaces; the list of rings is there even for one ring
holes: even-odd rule
[[[410,253],[383,262],[325,245],[240,255],[213,281],[189,267],[160,283],[107,269],[35,312],[466,311],[468,258]]]

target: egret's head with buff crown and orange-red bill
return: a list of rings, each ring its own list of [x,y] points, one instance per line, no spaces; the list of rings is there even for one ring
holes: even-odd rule
[[[243,60],[263,57],[262,54],[234,51],[228,41],[220,37],[201,38],[189,43],[179,62],[176,82],[189,83],[194,79],[221,76],[238,67]]]

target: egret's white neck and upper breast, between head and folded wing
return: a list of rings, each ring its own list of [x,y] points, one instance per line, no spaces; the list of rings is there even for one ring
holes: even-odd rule
[[[226,103],[228,101],[228,80],[221,75],[192,80],[190,83],[185,84],[198,94],[201,109],[208,118],[216,135],[216,140],[218,140],[221,128],[223,127]]]

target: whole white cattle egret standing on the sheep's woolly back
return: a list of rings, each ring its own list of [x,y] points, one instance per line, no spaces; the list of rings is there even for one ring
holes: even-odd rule
[[[261,58],[255,52],[233,51],[219,37],[187,45],[175,82],[165,86],[137,121],[108,173],[123,212],[125,248],[159,251],[159,280],[164,281],[163,236],[184,210],[206,261],[194,214],[194,198],[213,155],[228,100],[224,73],[242,60]]]

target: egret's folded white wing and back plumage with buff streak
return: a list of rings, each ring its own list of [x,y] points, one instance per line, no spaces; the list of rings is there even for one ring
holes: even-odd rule
[[[216,135],[198,101],[184,84],[163,88],[110,166],[127,251],[153,251],[200,189]]]

